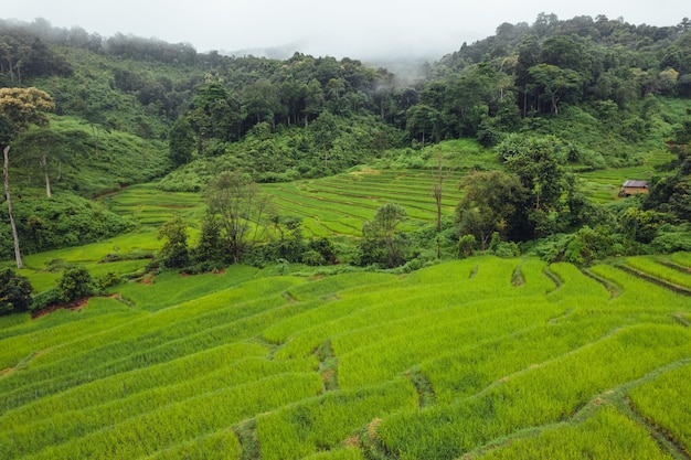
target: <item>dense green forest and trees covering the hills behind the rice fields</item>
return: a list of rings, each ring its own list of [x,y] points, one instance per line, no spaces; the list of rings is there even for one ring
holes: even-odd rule
[[[456,215],[439,215],[432,229],[400,235],[394,224],[404,210],[380,210],[352,263],[394,267],[435,245],[437,256],[439,247],[455,256],[534,252],[580,264],[691,249],[688,19],[650,26],[541,13],[532,24],[503,23],[417,74],[401,78],[348,57],[226,56],[45,20],[0,21],[0,143],[11,148],[6,196],[13,199],[22,249],[78,245],[131,228],[88,200],[157,179],[163,191],[206,191],[215,217],[200,224],[200,244],[226,238],[232,256],[199,256],[200,249],[201,261],[299,261],[313,258],[319,244],[334,260],[329,242],[298,242],[287,250],[284,231],[295,233],[299,223],[286,216],[267,216],[281,235],[262,249],[270,254],[234,246],[230,226],[215,221],[224,210],[214,191],[328,176],[359,164],[434,172],[427,148],[461,138],[495,152],[500,168],[466,171]],[[650,178],[650,193],[626,203],[589,202],[574,175],[636,165],[644,153],[667,150],[674,159]],[[3,212],[3,259],[13,255],[10,224]]]

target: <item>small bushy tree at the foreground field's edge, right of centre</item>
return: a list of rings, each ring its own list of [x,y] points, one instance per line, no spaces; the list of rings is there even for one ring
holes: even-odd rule
[[[408,242],[397,226],[407,213],[400,204],[387,203],[376,211],[374,218],[362,226],[360,264],[384,264],[387,268],[405,264]]]

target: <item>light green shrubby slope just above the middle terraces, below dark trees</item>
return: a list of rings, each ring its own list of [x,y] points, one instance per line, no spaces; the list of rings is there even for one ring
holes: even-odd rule
[[[238,141],[209,140],[205,157],[171,172],[159,186],[200,191],[212,176],[227,170],[240,170],[264,183],[330,175],[397,147],[398,137],[395,129],[371,116],[344,119],[329,114],[309,128],[275,130],[263,122]]]

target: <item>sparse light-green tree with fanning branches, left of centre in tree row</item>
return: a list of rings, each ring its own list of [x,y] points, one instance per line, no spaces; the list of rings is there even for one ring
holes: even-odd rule
[[[262,236],[267,205],[268,196],[240,172],[223,172],[209,183],[206,212],[219,216],[223,242],[235,264],[247,245]]]

